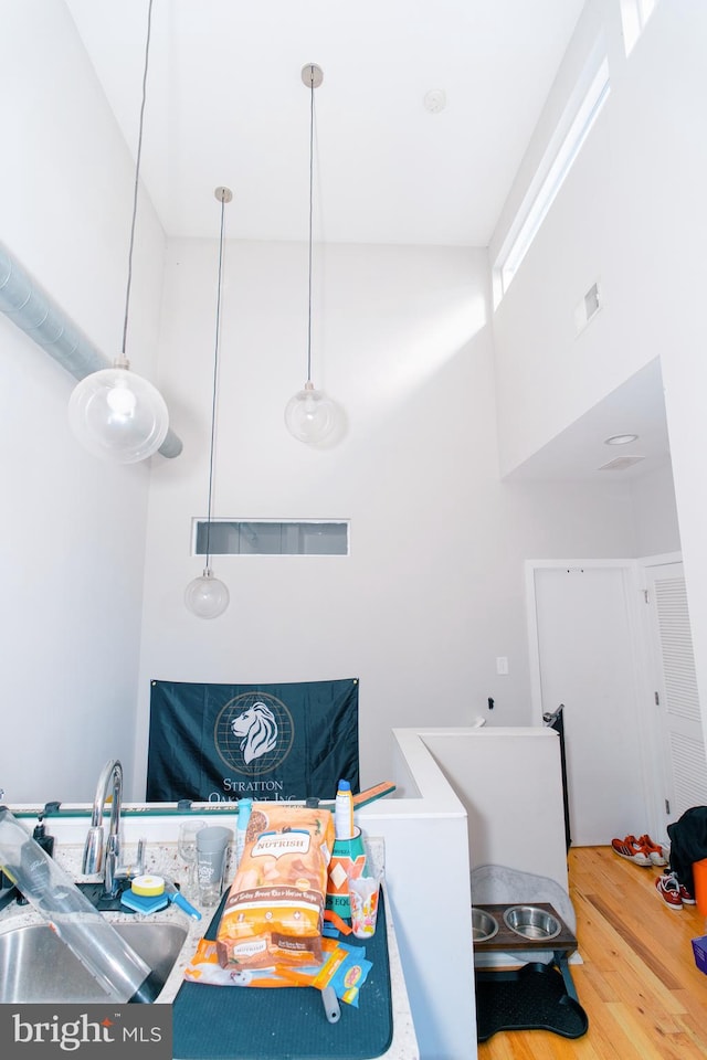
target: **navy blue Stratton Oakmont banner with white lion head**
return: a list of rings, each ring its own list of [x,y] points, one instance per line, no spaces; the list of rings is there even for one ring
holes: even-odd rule
[[[152,681],[148,802],[333,799],[359,791],[358,680]]]

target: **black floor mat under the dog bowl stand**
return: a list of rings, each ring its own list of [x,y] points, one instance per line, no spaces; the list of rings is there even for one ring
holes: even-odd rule
[[[581,1038],[589,1020],[557,968],[525,964],[513,972],[476,973],[476,1026],[479,1041],[497,1030],[551,1030]]]

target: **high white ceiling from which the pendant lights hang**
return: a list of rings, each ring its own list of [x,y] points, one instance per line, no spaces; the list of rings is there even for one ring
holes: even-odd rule
[[[66,0],[135,152],[148,0]],[[584,0],[154,0],[141,176],[168,235],[485,246]],[[425,109],[430,91],[446,106]]]

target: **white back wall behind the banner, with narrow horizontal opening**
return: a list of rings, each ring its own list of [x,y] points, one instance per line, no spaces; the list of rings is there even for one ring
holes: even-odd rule
[[[306,246],[229,243],[213,510],[349,518],[351,554],[218,556],[231,606],[204,622],[183,591],[203,565],[189,550],[207,508],[217,245],[169,244],[160,377],[184,453],[152,476],[137,748],[154,678],[358,677],[368,784],[389,775],[393,727],[469,724],[489,696],[490,721],[527,722],[524,560],[631,554],[635,533],[613,486],[498,480],[484,252],[315,250],[314,379],[348,433],[316,449],[283,423],[306,367]]]

